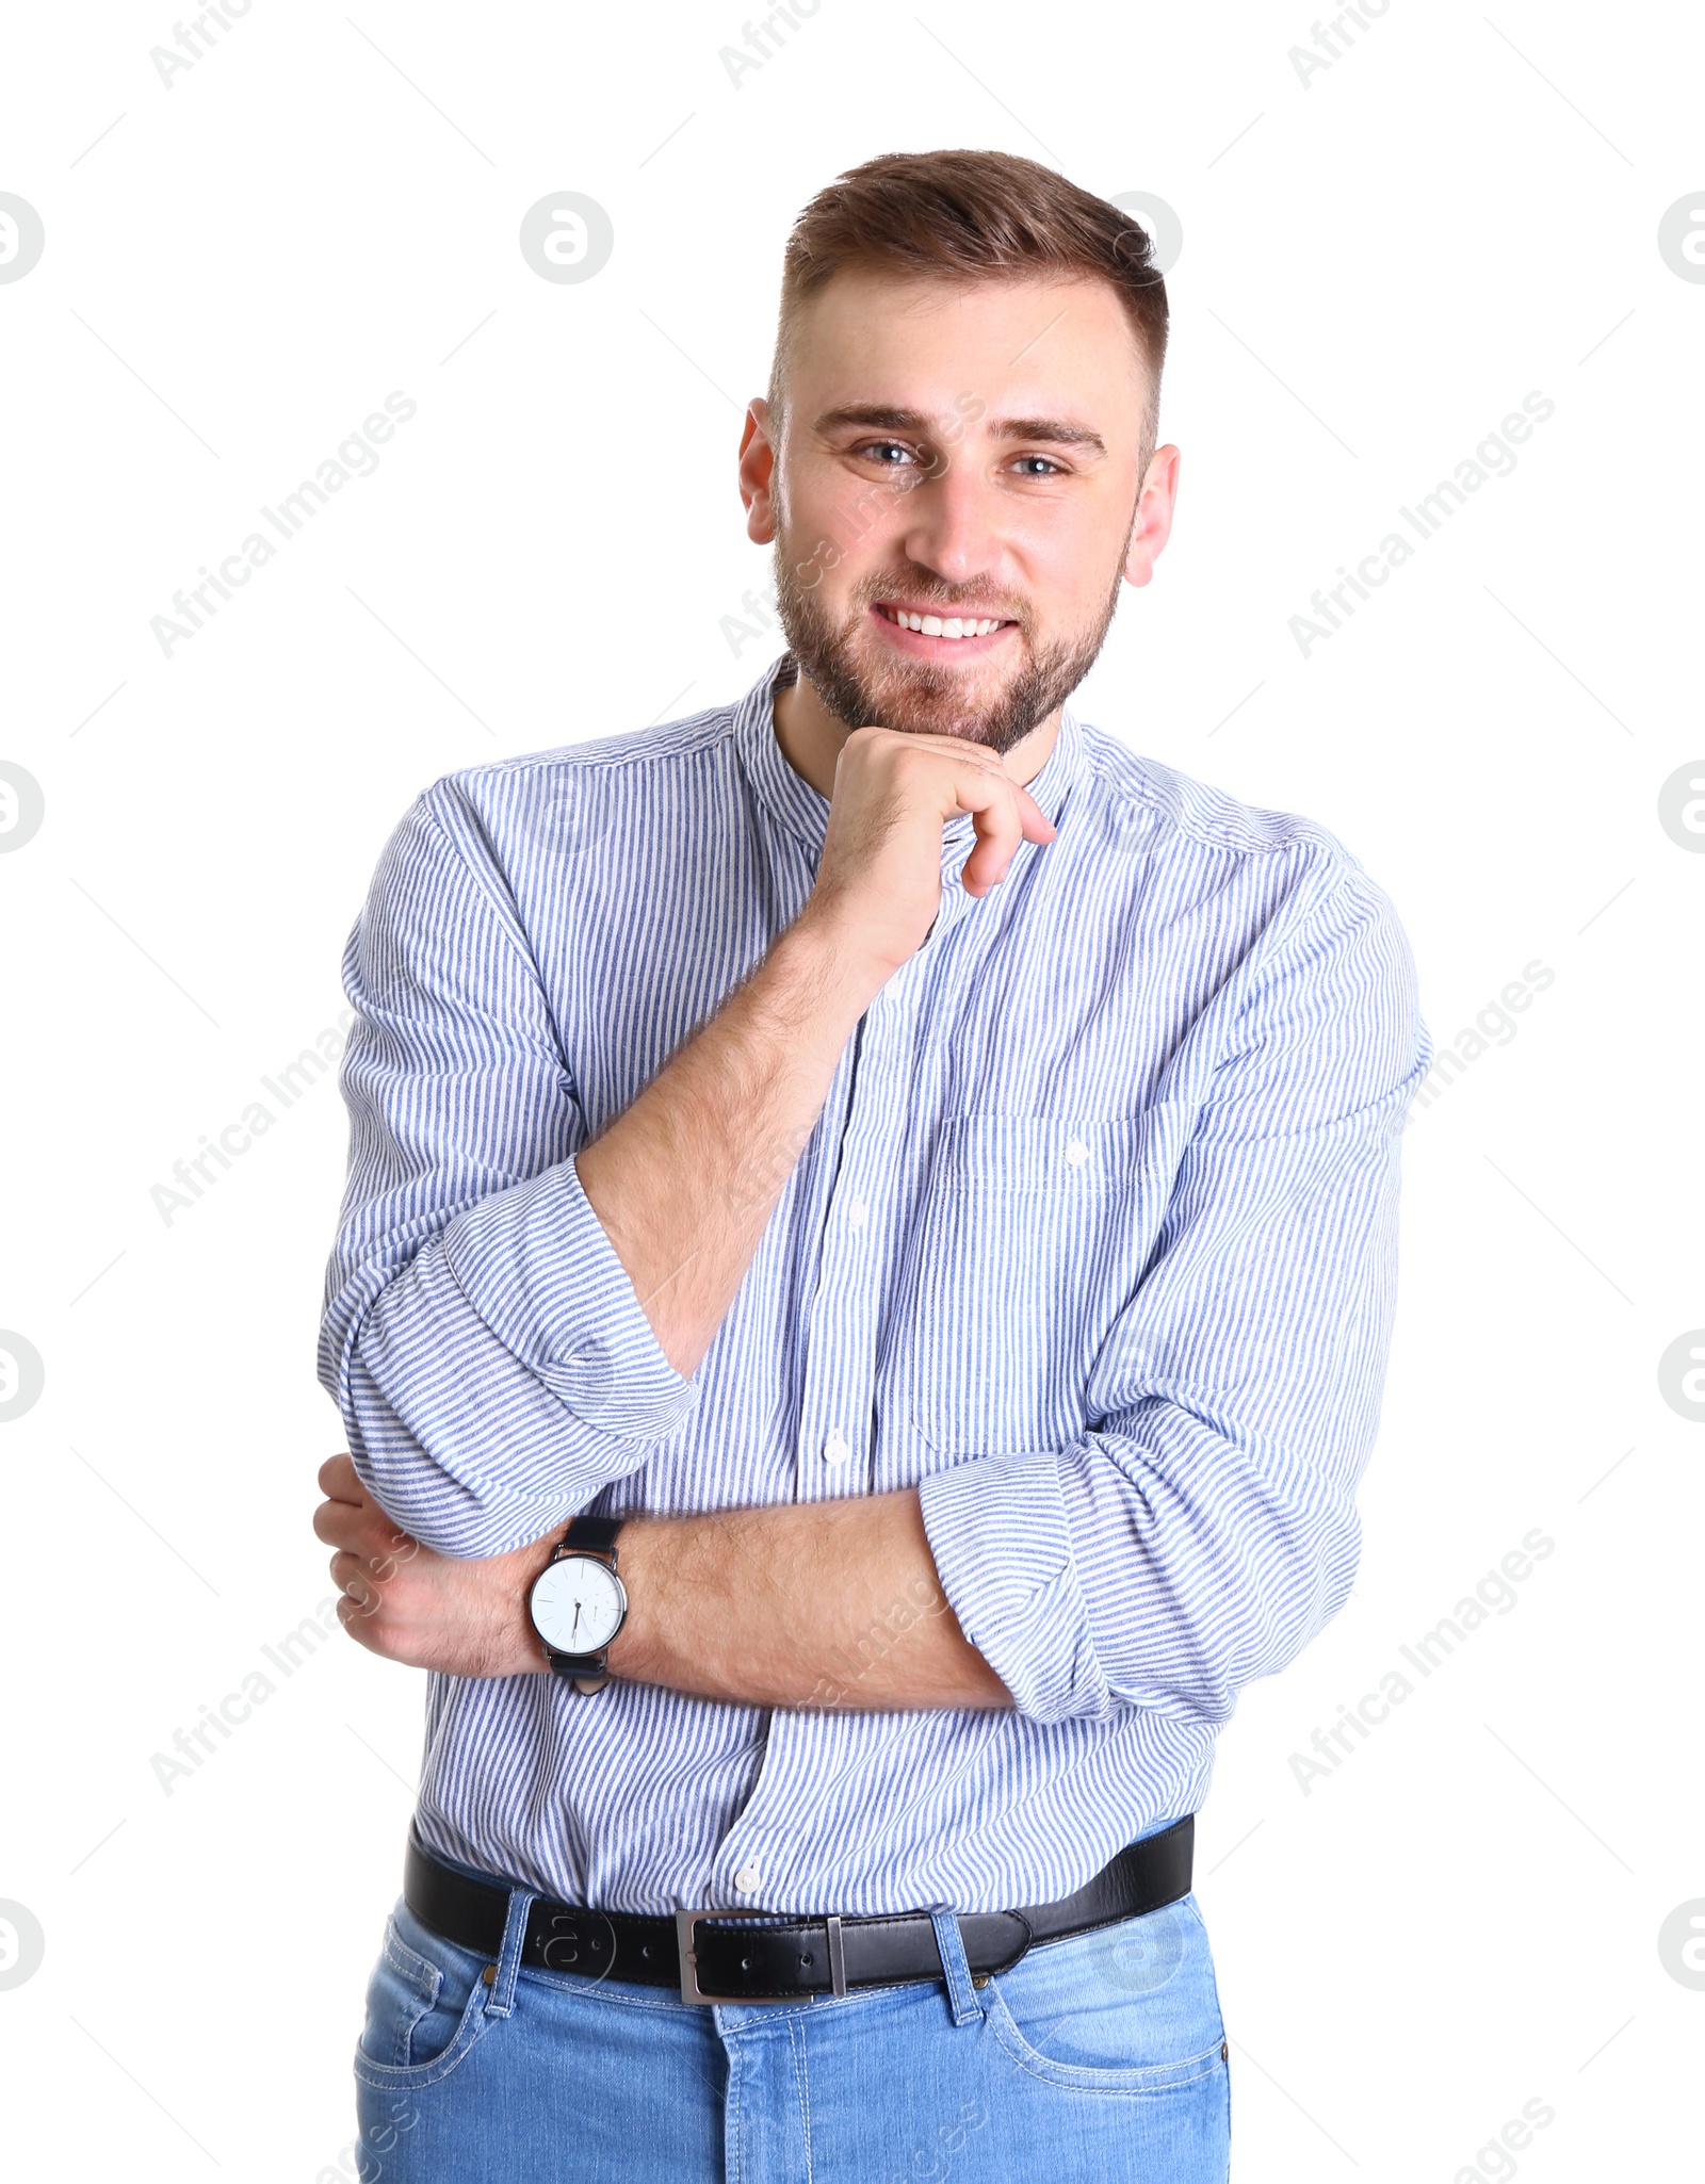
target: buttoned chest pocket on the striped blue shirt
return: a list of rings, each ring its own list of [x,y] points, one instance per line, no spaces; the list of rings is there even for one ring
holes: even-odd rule
[[[940,1125],[896,1369],[940,1455],[1016,1455],[1082,1433],[1084,1385],[1130,1304],[1189,1136],[1185,1103]]]

